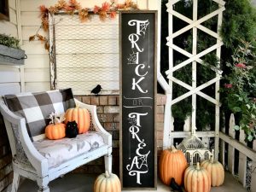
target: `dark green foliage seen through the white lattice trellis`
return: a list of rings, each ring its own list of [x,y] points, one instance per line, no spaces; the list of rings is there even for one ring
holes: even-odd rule
[[[162,44],[161,44],[161,71],[165,73],[167,69],[169,69],[168,64],[168,47],[166,47],[166,37],[168,36],[168,15],[166,11],[166,3],[168,1],[162,1]],[[212,0],[199,0],[198,3],[198,18],[201,18],[212,11],[218,9],[218,4],[212,2]],[[190,19],[192,19],[193,15],[193,1],[181,0],[180,2],[176,3],[174,9]],[[204,26],[212,31],[217,31],[217,18],[212,18],[211,20],[207,20],[204,22]],[[177,17],[173,17],[173,32],[177,32],[178,30],[182,29],[184,26],[188,24],[183,22],[182,20],[178,19]],[[164,36],[164,37],[163,37]],[[178,47],[185,49],[189,53],[192,53],[192,45],[193,45],[193,35],[192,30],[183,33],[182,35],[178,36],[177,38],[173,39],[174,44]],[[207,35],[204,32],[198,30],[198,46],[197,52],[201,52],[204,49],[211,47],[213,44],[216,44],[216,39],[212,38],[210,35]],[[174,66],[177,64],[185,61],[187,59],[186,56],[177,53],[174,51],[173,53],[173,62]],[[211,53],[209,55],[204,56],[201,58],[204,61],[204,66],[197,63],[197,85],[204,84],[208,80],[215,77],[215,73],[209,67],[217,67],[219,60],[215,53]],[[190,63],[186,67],[183,67],[176,72],[173,73],[173,76],[176,79],[182,80],[186,84],[192,84],[192,64]],[[172,96],[173,99],[177,98],[178,96],[182,96],[184,93],[188,92],[189,90],[183,88],[180,85],[173,84],[172,89]],[[211,86],[204,90],[204,92],[212,96],[215,94],[214,86]],[[175,105],[172,106],[172,116],[175,118],[175,123],[183,122],[189,115],[192,113],[192,105],[191,105],[191,96],[184,99],[182,102],[177,102]],[[196,125],[198,130],[204,130],[207,125],[211,125],[214,127],[214,115],[215,115],[215,107],[212,103],[207,102],[201,96],[197,96],[197,106],[196,106]],[[178,127],[177,129],[183,129],[182,127]]]

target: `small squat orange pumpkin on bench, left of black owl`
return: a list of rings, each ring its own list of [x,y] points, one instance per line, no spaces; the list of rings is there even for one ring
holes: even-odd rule
[[[45,136],[49,139],[61,139],[66,136],[65,124],[49,124],[45,128]]]

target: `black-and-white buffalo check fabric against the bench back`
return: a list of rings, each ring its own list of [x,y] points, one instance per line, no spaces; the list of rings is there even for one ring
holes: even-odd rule
[[[20,93],[3,98],[9,110],[26,119],[26,129],[32,140],[44,134],[50,113],[64,113],[67,108],[75,107],[71,89]]]

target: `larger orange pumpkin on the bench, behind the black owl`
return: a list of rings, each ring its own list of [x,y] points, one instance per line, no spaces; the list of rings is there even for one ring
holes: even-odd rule
[[[90,112],[86,108],[68,108],[65,118],[65,124],[67,124],[67,121],[76,121],[79,134],[87,132],[90,128]]]

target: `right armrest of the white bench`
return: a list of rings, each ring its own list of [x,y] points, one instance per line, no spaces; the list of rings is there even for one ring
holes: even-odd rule
[[[99,133],[101,133],[103,139],[104,139],[104,143],[107,143],[109,146],[112,146],[112,135],[108,133],[108,131],[106,131],[97,116],[97,112],[96,112],[96,106],[95,105],[88,105],[85,104],[84,102],[79,102],[79,100],[74,99],[75,103],[77,106],[79,106],[80,108],[86,108],[90,111],[91,114],[91,122],[92,125],[94,126],[95,130]]]

